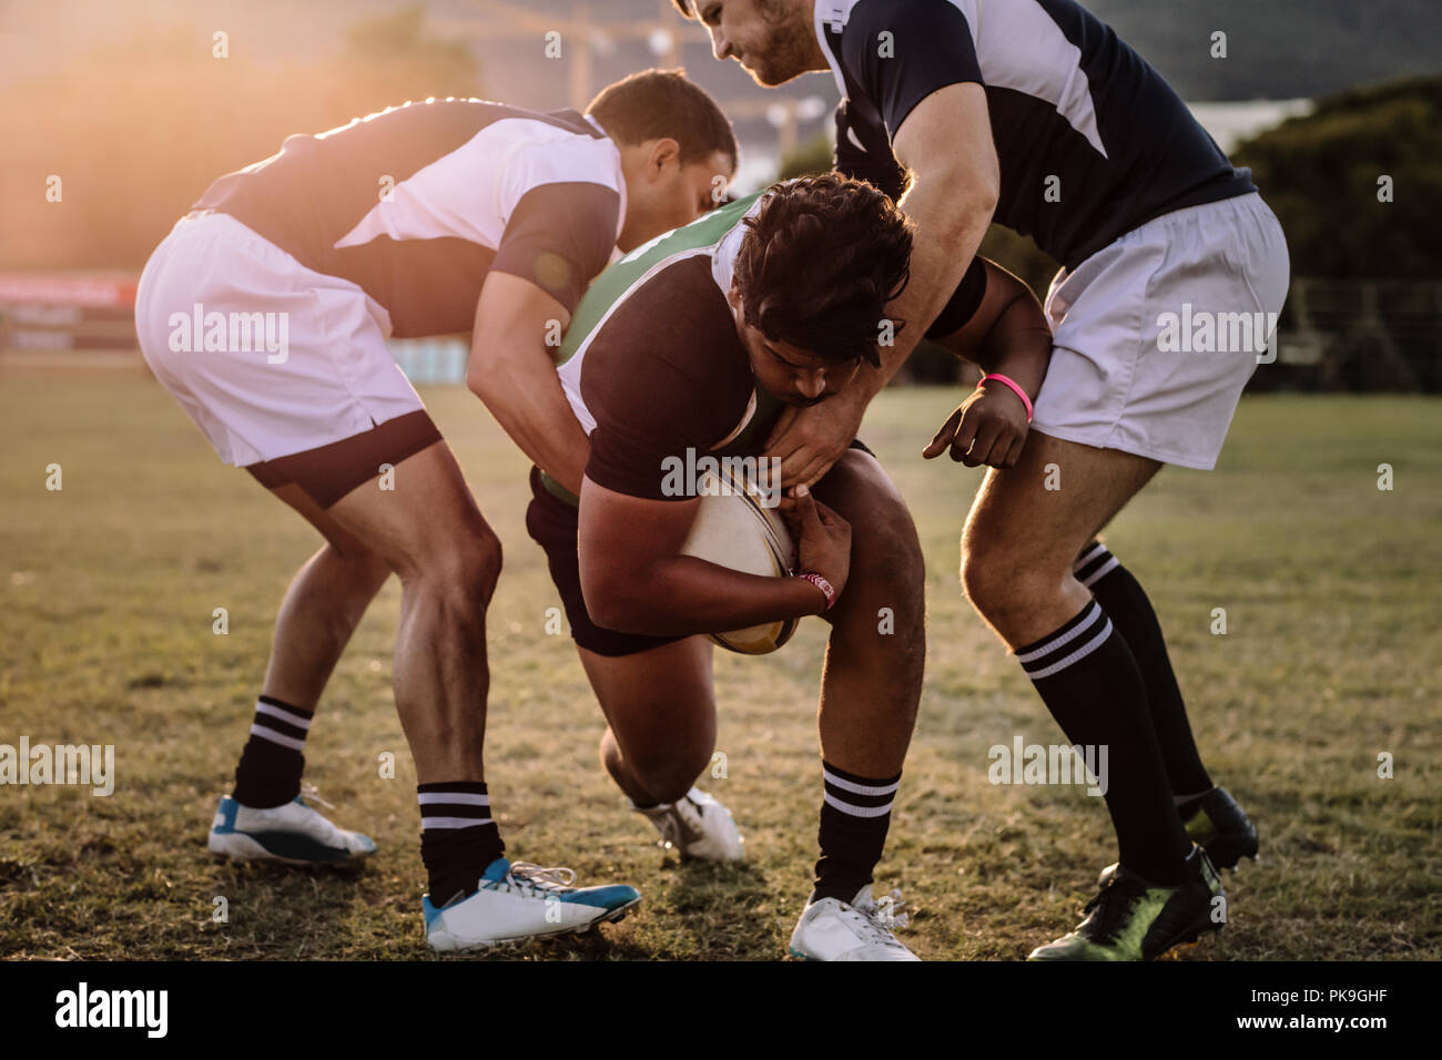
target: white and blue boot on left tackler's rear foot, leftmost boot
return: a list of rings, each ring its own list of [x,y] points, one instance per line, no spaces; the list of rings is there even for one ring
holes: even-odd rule
[[[307,787],[306,793],[324,802],[314,787]],[[231,861],[287,865],[343,865],[375,854],[369,836],[336,828],[306,802],[304,795],[271,809],[242,806],[229,795],[221,796],[206,845],[212,854]]]

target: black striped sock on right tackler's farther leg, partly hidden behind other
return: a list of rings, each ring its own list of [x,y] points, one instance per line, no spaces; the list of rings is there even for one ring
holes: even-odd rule
[[[1201,764],[1197,741],[1187,721],[1187,704],[1177,686],[1177,675],[1167,655],[1167,640],[1152,601],[1132,573],[1118,562],[1106,545],[1093,542],[1082,551],[1074,568],[1077,580],[1092,590],[1097,603],[1126,637],[1146,685],[1146,705],[1152,712],[1156,743],[1167,763],[1172,795],[1203,795],[1211,790],[1211,777]]]

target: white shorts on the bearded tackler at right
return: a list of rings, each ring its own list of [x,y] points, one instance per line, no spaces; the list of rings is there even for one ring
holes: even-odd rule
[[[1053,353],[1032,428],[1210,470],[1289,273],[1256,193],[1164,213],[1063,268],[1047,291]]]

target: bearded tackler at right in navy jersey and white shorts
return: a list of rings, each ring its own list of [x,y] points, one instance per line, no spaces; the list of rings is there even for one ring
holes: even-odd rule
[[[994,219],[1061,262],[1045,388],[1002,358],[926,449],[992,469],[962,536],[966,593],[1069,740],[1110,748],[1119,865],[1077,930],[1031,956],[1145,959],[1220,927],[1208,855],[1255,855],[1256,831],[1201,763],[1145,591],[1096,535],[1164,463],[1216,464],[1266,336],[1185,356],[1156,336],[1188,306],[1275,320],[1289,273],[1276,218],[1076,0],[673,1],[758,84],[835,75],[838,169],[904,193],[917,225],[914,283],[891,316],[932,330],[965,320],[953,293]],[[816,482],[842,457],[919,332],[844,398],[782,418],[769,451],[786,482]]]

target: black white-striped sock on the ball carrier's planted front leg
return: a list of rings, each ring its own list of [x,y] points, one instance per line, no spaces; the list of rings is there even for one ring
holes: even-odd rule
[[[891,803],[901,774],[872,779],[822,763],[820,860],[812,901],[849,903],[871,883],[891,826]]]

